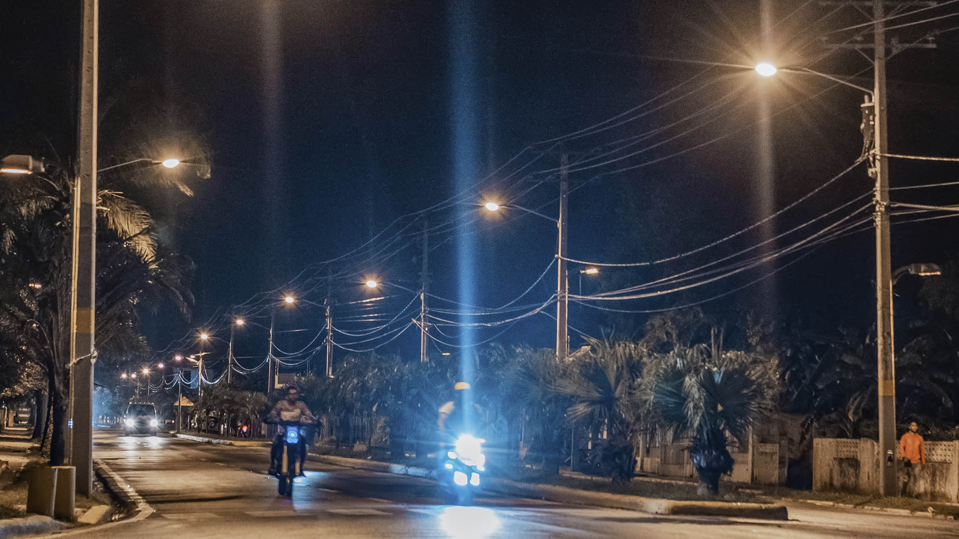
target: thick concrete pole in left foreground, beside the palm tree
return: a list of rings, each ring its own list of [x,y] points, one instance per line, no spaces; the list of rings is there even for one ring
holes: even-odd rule
[[[73,257],[70,289],[70,464],[77,468],[77,492],[93,490],[93,364],[96,327],[97,239],[97,72],[98,0],[83,0],[80,122],[74,189]],[[51,373],[51,376],[54,374]]]

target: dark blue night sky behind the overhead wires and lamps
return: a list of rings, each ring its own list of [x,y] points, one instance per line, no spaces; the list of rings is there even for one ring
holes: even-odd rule
[[[73,152],[77,3],[21,2],[8,13],[0,151],[49,157],[55,149],[65,159]],[[749,64],[771,59],[844,75],[868,67],[851,51],[825,55],[825,41],[855,34],[830,31],[861,22],[858,13],[829,14],[817,3],[799,0],[768,4],[771,25],[765,26],[763,45],[765,8],[760,2],[103,0],[101,162],[130,154],[131,145],[159,148],[151,137],[160,140],[171,133],[193,137],[211,155],[211,177],[191,182],[192,198],[159,190],[145,195],[156,206],[164,239],[197,262],[197,318],[204,320],[454,193],[455,128],[464,111],[455,106],[458,82],[452,66],[454,52],[462,49],[454,45],[465,36],[453,34],[456,26],[450,20],[459,10],[475,36],[469,59],[475,89],[470,113],[477,119],[471,133],[479,155],[473,181],[533,142],[593,126],[694,76],[699,79],[679,93],[711,82],[673,105],[650,110],[665,98],[647,105],[643,110],[649,113],[642,119],[567,143],[573,160],[588,158],[588,152],[609,148],[601,145],[667,127],[716,105],[690,123],[650,135],[645,146],[652,148],[620,164],[681,154],[620,174],[594,178],[614,165],[572,175],[578,188],[570,202],[571,257],[614,262],[666,257],[784,207],[849,166],[861,148],[862,97],[855,90],[839,87],[812,97],[830,82],[798,74],[760,81],[755,73],[737,68],[676,61]],[[949,29],[955,20],[891,35],[908,42],[933,29]],[[939,36],[937,49],[909,50],[890,60],[894,152],[959,155],[957,35]],[[869,76],[855,82],[871,85]],[[766,139],[760,103],[772,114]],[[557,165],[558,152],[553,151],[535,169]],[[519,181],[522,176],[485,194],[520,193],[532,185]],[[547,204],[542,211],[555,215],[551,201],[556,184],[548,176],[535,176],[546,181],[516,203]],[[893,165],[898,185],[954,178],[954,166]],[[584,293],[615,290],[713,261],[870,187],[860,167],[782,219],[735,242],[657,267],[604,271],[584,283]],[[907,199],[943,203],[957,201],[957,196],[956,190],[944,188],[928,195],[908,193]],[[471,206],[459,211],[479,215]],[[514,211],[500,221],[474,224],[475,300],[480,305],[502,305],[526,290],[555,252],[553,224],[531,216],[513,219],[519,217]],[[950,220],[896,227],[894,267],[953,256],[955,232]],[[444,238],[437,235],[431,241]],[[454,299],[455,243],[431,253],[433,292]],[[353,270],[418,289],[418,254],[410,246],[388,261],[374,260],[368,269]],[[867,230],[707,307],[741,307],[780,317],[802,311],[831,322],[868,324],[875,301],[872,257]],[[695,302],[732,291],[772,268],[661,298],[604,305],[647,310]],[[571,268],[574,293],[578,269]],[[363,293],[360,280],[358,276],[357,297]],[[549,297],[554,284],[550,271],[530,294],[532,300]],[[907,284],[902,293],[915,286]],[[322,302],[322,293],[295,288],[290,292]],[[407,300],[405,295],[397,298],[397,308]],[[287,327],[321,325],[318,310],[300,313],[285,321]],[[644,319],[578,307],[571,313],[571,323],[592,335],[610,325],[630,331]],[[502,340],[549,346],[551,323],[546,316],[533,316]],[[186,327],[161,315],[148,330],[154,344],[163,347]],[[409,340],[396,341],[395,349],[404,356],[416,355],[413,333],[407,334]],[[477,339],[495,333],[483,330]],[[264,346],[262,337],[256,339],[250,337],[250,350]],[[309,341],[288,339],[292,348]]]

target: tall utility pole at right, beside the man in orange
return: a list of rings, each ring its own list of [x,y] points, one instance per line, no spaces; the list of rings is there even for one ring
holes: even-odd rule
[[[889,246],[889,135],[886,126],[885,0],[874,0],[875,155],[870,174],[876,178],[876,346],[879,395],[879,477],[882,494],[899,494],[896,472],[896,361],[893,347],[893,281]]]

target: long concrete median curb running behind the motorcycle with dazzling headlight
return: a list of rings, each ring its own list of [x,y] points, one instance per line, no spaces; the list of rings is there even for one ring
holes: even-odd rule
[[[333,457],[329,455],[314,455],[316,460],[375,472],[400,474],[416,477],[431,477],[433,471],[415,466],[402,466],[363,460],[360,458]],[[577,505],[598,505],[616,509],[632,509],[657,515],[698,515],[722,516],[733,518],[788,520],[788,511],[784,505],[771,504],[740,504],[732,502],[685,502],[678,500],[664,500],[659,498],[643,498],[628,494],[610,494],[606,492],[592,492],[566,486],[550,484],[522,483],[511,480],[491,478],[486,480],[486,489],[502,492],[512,496],[539,498],[550,502]]]

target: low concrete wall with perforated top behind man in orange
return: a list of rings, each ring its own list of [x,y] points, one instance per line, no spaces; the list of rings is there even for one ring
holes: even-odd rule
[[[907,495],[959,502],[959,440],[925,442],[925,465],[915,468],[916,480]],[[861,494],[879,492],[879,448],[868,438],[816,438],[812,444],[812,489]],[[894,461],[905,479],[899,449]]]

